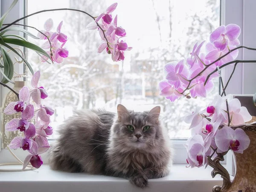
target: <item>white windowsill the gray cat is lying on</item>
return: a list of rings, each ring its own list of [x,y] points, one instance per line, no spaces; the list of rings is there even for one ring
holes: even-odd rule
[[[4,167],[1,167],[3,169]],[[14,168],[14,166],[12,166]],[[17,166],[16,169],[19,169]],[[151,179],[146,189],[131,185],[128,180],[103,175],[52,171],[48,165],[26,172],[0,172],[1,192],[211,192],[222,185],[220,175],[211,177],[211,167],[186,168],[174,165],[168,176]]]

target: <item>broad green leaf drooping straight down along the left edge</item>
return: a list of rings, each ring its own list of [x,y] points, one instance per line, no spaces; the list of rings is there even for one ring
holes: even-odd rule
[[[3,56],[3,63],[4,63],[4,72],[0,69],[0,73],[3,74],[3,79],[1,82],[4,84],[11,82],[14,84],[14,82],[11,80],[14,73],[14,65],[12,62],[12,59],[10,58],[8,52],[0,47],[1,54]]]

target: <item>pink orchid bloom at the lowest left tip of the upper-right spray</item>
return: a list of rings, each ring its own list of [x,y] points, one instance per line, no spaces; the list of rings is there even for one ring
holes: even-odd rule
[[[174,102],[179,97],[183,96],[180,93],[183,91],[180,87],[177,90],[170,85],[166,80],[162,80],[159,83],[160,96],[169,99],[171,102]]]

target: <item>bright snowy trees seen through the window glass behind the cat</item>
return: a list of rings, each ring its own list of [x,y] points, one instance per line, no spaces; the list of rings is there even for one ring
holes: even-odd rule
[[[220,0],[27,0],[27,14],[43,9],[72,8],[93,16],[118,2],[113,15],[128,36],[124,38],[133,49],[125,52],[125,60],[113,62],[107,52],[99,54],[102,43],[97,31],[86,29],[93,20],[79,12],[45,12],[27,19],[27,25],[44,29],[48,18],[54,29],[63,20],[61,31],[68,36],[65,44],[69,57],[63,63],[42,64],[36,52],[28,50],[27,58],[35,71],[41,71],[41,84],[49,94],[44,105],[55,109],[51,126],[58,137],[61,123],[74,109],[105,108],[116,112],[121,103],[134,111],[147,111],[161,106],[162,123],[171,139],[190,136],[183,117],[196,106],[204,107],[218,94],[218,78],[207,99],[180,98],[170,102],[159,96],[158,83],[163,67],[169,61],[188,58],[196,42],[209,39],[220,23]],[[34,29],[28,29],[37,34]],[[41,45],[44,41],[32,43]],[[31,78],[31,77],[29,77]]]

